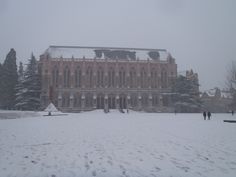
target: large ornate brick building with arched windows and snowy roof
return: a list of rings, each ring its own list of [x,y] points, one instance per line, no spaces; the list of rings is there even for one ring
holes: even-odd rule
[[[50,46],[39,68],[42,107],[62,111],[169,110],[177,76],[165,49]]]

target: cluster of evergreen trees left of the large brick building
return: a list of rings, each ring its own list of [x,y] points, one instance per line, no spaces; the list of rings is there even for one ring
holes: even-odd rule
[[[0,109],[39,110],[40,75],[37,60],[32,54],[26,68],[16,64],[16,51],[11,49],[0,63]]]

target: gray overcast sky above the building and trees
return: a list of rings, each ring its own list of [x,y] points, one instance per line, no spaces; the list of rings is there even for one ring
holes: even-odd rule
[[[235,0],[0,0],[0,62],[49,45],[165,48],[201,90],[224,87],[236,60]]]

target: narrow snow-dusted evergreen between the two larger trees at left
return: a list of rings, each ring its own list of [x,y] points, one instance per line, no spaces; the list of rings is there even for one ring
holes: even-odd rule
[[[16,85],[16,100],[15,100],[15,108],[18,110],[23,109],[24,92],[26,90],[24,88],[23,81],[24,81],[24,68],[22,62],[20,62],[18,70],[18,82]]]

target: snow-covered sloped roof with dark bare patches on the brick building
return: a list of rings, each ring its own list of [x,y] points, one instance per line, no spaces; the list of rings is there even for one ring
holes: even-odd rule
[[[45,54],[50,58],[87,58],[123,60],[166,60],[166,49],[120,48],[120,47],[81,47],[49,46]]]

